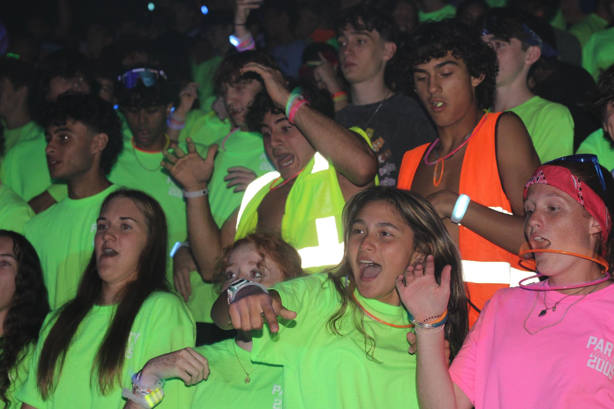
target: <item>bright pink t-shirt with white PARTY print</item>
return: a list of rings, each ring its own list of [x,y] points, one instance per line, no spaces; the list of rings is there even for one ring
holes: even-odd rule
[[[541,286],[537,283],[535,286]],[[530,332],[554,324],[581,296],[540,291]],[[588,294],[561,323],[523,327],[537,291],[500,289],[484,305],[449,372],[480,408],[614,408],[614,285]]]

